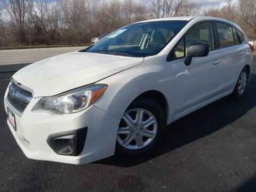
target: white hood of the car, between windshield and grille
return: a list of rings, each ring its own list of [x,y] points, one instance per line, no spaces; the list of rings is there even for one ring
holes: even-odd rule
[[[13,75],[15,81],[45,97],[95,83],[140,65],[143,58],[71,52],[35,62]]]

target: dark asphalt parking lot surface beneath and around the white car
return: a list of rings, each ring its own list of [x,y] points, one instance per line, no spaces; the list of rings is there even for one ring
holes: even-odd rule
[[[256,56],[242,99],[172,123],[146,155],[79,166],[26,158],[7,127],[4,92],[26,65],[0,66],[0,191],[256,191]]]

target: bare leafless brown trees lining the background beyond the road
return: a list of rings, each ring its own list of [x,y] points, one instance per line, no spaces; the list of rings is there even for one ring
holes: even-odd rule
[[[227,0],[202,8],[188,0],[0,0],[0,46],[86,44],[133,22],[152,18],[213,16],[256,34],[256,0]]]

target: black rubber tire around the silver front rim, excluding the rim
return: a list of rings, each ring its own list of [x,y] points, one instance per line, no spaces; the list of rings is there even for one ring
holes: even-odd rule
[[[141,149],[127,149],[121,146],[116,141],[117,153],[121,153],[123,155],[138,155],[145,153],[146,151],[153,149],[157,145],[157,143],[161,141],[161,138],[164,135],[164,131],[166,128],[166,114],[163,108],[158,105],[158,103],[151,99],[137,99],[131,103],[131,105],[126,109],[126,111],[136,108],[146,109],[155,116],[157,121],[157,132],[155,138],[153,141],[151,141],[151,143],[149,143],[149,145]]]

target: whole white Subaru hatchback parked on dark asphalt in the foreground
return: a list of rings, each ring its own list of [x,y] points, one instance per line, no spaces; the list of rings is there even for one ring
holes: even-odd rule
[[[15,73],[7,124],[32,159],[85,164],[115,151],[140,154],[157,146],[166,125],[226,95],[242,97],[252,49],[223,19],[133,23]]]

